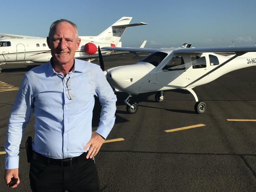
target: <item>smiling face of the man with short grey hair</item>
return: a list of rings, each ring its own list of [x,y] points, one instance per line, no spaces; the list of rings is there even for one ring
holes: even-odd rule
[[[79,48],[81,39],[77,39],[74,27],[68,22],[60,22],[52,30],[47,43],[54,62],[61,65],[73,64],[75,51]]]

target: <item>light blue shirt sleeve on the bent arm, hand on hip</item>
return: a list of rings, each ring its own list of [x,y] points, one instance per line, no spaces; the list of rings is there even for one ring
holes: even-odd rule
[[[99,127],[95,132],[106,139],[112,127],[114,126],[116,119],[116,95],[107,82],[107,79],[101,69],[99,69],[96,81],[96,93],[97,97],[99,97],[102,108]]]

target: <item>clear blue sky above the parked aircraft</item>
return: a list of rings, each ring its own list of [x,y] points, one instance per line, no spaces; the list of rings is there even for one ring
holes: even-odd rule
[[[1,2],[0,34],[47,37],[68,19],[81,36],[100,34],[121,17],[148,25],[127,28],[122,47],[223,47],[256,43],[255,0],[8,0]]]

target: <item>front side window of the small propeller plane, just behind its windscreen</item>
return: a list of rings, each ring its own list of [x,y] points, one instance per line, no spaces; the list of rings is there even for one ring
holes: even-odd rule
[[[177,70],[185,70],[185,62],[182,56],[173,57],[162,69],[162,71],[177,71]]]

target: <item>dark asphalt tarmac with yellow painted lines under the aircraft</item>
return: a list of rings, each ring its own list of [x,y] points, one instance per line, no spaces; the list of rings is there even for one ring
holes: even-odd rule
[[[135,63],[136,58],[133,54],[121,54],[105,57],[104,61],[107,69]],[[0,74],[2,153],[9,113],[17,94],[15,89],[24,73],[37,65],[0,66],[3,69]],[[207,104],[204,114],[194,112],[194,97],[183,91],[165,92],[162,103],[155,101],[154,93],[135,96],[133,101],[139,104],[138,112],[128,114],[123,103],[127,94],[117,93],[116,123],[107,138],[109,142],[103,144],[95,158],[102,191],[256,191],[255,74],[256,67],[249,67],[194,88],[199,100]],[[9,90],[1,91],[3,86]],[[96,99],[93,129],[99,122],[99,113]],[[4,154],[0,155],[2,192],[30,191],[24,146],[27,136],[34,135],[33,124],[32,117],[21,143],[18,188],[9,189],[5,185]],[[196,128],[189,127],[192,125]],[[191,129],[164,131],[184,127]]]

